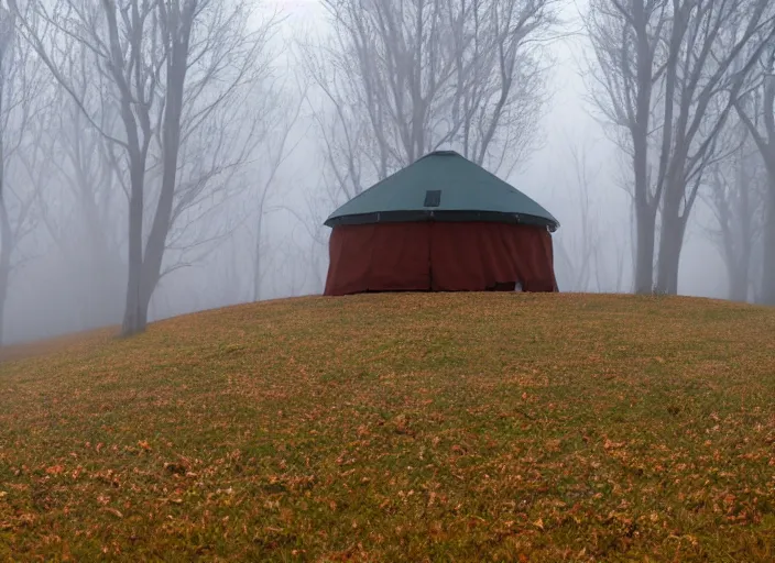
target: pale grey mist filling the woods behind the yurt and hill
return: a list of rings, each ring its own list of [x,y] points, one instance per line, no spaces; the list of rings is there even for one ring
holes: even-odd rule
[[[318,295],[328,262],[325,218],[385,174],[435,148],[461,152],[559,220],[554,243],[560,291],[645,292],[636,278],[637,188],[627,136],[633,128],[623,119],[611,119],[622,114],[611,109],[611,100],[621,100],[612,97],[612,82],[604,78],[616,69],[600,63],[610,62],[604,52],[616,48],[610,44],[614,34],[604,35],[601,25],[621,25],[607,11],[611,2],[541,0],[533,2],[539,9],[527,14],[525,2],[488,0],[481,3],[492,10],[506,5],[522,10],[527,23],[517,29],[522,20],[515,18],[513,30],[482,24],[471,31],[469,8],[433,14],[432,2],[413,0],[404,2],[405,18],[427,19],[427,33],[422,26],[402,27],[403,15],[395,15],[401,33],[388,25],[393,35],[380,38],[379,22],[385,19],[381,10],[386,13],[393,3],[177,0],[171,3],[179,8],[175,15],[157,13],[154,2],[120,0],[112,3],[118,5],[116,29],[123,33],[121,26],[129,25],[139,33],[138,42],[144,42],[132,59],[131,41],[122,38],[131,34],[116,35],[127,54],[121,60],[111,58],[118,55],[109,48],[113,36],[102,4],[17,0],[3,5],[0,120],[9,229],[3,230],[2,244],[10,260],[0,264],[8,271],[7,295],[0,291],[2,343],[108,325],[123,324],[127,332],[128,308],[141,310],[144,297],[148,318],[133,318],[128,332],[141,332],[145,320]],[[653,13],[644,30],[652,33],[658,29],[655,7],[662,4],[645,3]],[[424,4],[427,12],[418,12]],[[626,3],[634,4],[644,2]],[[690,162],[683,180],[675,186],[665,180],[664,199],[659,196],[653,203],[650,290],[730,298],[734,278],[730,268],[740,266],[730,265],[730,255],[740,255],[745,246],[750,258],[740,283],[744,291],[741,296],[738,288],[735,297],[769,302],[766,255],[772,250],[764,241],[773,231],[768,225],[775,221],[775,205],[765,202],[775,194],[775,167],[768,177],[764,155],[757,151],[764,145],[757,145],[756,134],[765,137],[773,112],[769,92],[775,86],[767,77],[775,56],[775,8],[762,0],[742,4],[736,10],[758,19],[738,23],[754,32],[740,45],[729,71],[719,68],[717,57],[697,75],[701,86],[709,80],[706,75],[719,76],[713,91],[723,90],[728,97],[713,93],[705,106],[696,99],[687,102],[689,118],[702,113],[697,137],[686,141]],[[140,20],[128,24],[131,15],[121,19],[133,7],[148,10],[142,24]],[[190,36],[184,36],[179,30],[188,9]],[[367,15],[359,19],[361,12]],[[487,13],[482,8],[482,22]],[[170,24],[173,15],[183,26]],[[720,27],[718,34],[729,37],[734,32]],[[392,58],[385,55],[391,51],[382,40],[397,42],[399,36],[405,45],[422,44],[426,49],[417,59],[429,69],[418,79],[419,93],[412,89],[414,67],[402,70],[410,49],[396,47]],[[179,85],[173,80],[173,53],[179,53],[160,47],[164,41],[154,37],[187,45],[188,75]],[[498,53],[503,46],[498,41],[512,42],[504,51],[513,57],[511,66],[481,54]],[[473,44],[476,51],[466,51]],[[457,58],[449,55],[456,45]],[[659,60],[664,56],[655,55]],[[121,77],[114,76],[120,64],[125,65],[122,76],[132,89],[128,98],[122,97]],[[443,75],[437,64],[449,65],[448,74]],[[133,65],[148,76],[135,80]],[[365,68],[373,74],[364,74]],[[484,74],[477,75],[477,68]],[[513,73],[509,89],[499,81],[499,71]],[[405,81],[403,93],[396,93],[402,88],[390,73]],[[673,76],[688,84],[688,73],[681,67]],[[654,84],[657,80],[662,78],[655,77]],[[605,84],[608,90],[601,87]],[[674,153],[661,156],[661,132],[670,119],[665,118],[669,96],[663,86],[654,88],[646,111],[656,117],[645,140],[653,150],[644,178],[652,190],[658,188],[661,164],[678,168]],[[141,93],[144,102],[138,101]],[[698,91],[697,99],[701,95]],[[505,103],[499,106],[501,99]],[[179,126],[172,115],[176,100]],[[417,100],[423,102],[419,109]],[[138,146],[142,150],[143,139],[148,141],[139,174],[133,174],[138,159],[131,151],[129,117],[141,132]],[[417,122],[413,119],[424,123],[423,131],[412,128]],[[492,135],[477,133],[490,125]],[[679,124],[674,131],[676,139],[681,136]],[[415,136],[408,139],[410,134]],[[772,135],[775,146],[775,130]],[[738,157],[742,151],[747,151],[750,172],[744,188],[735,179],[740,176],[735,170],[743,166]],[[694,155],[699,155],[696,161]],[[143,181],[144,187],[138,188]],[[749,214],[730,207],[743,189],[751,194]],[[138,201],[132,195],[138,194],[144,195],[138,203],[144,214],[130,217],[132,201]],[[170,208],[160,213],[164,194],[170,195]],[[686,216],[685,231],[679,220],[677,230],[665,227],[673,217],[670,206],[680,207],[679,219]],[[166,224],[160,227],[164,221],[159,218],[165,217]],[[142,231],[139,239],[132,239],[132,221]],[[754,227],[740,241],[735,233],[749,224],[745,221]],[[673,241],[670,236],[679,232]],[[738,239],[732,241],[733,236]],[[137,254],[130,256],[133,240],[134,249],[143,251],[140,262]],[[663,269],[676,250],[674,287]],[[157,272],[150,263],[154,253],[163,255]],[[129,303],[128,284],[140,288],[135,303]]]

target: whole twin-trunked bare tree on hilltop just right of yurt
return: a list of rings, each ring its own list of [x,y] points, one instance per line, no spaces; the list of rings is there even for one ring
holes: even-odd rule
[[[703,172],[719,156],[719,132],[746,76],[775,36],[774,21],[768,0],[592,1],[593,99],[632,156],[637,292],[677,291]]]

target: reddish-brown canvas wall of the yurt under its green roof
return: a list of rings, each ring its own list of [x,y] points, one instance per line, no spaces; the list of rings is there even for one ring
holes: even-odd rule
[[[557,291],[552,235],[491,222],[335,227],[325,295],[361,291]]]

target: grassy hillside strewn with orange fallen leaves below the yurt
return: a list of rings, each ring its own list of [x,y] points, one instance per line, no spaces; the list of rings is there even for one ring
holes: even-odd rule
[[[376,295],[0,365],[0,560],[775,561],[775,310]]]

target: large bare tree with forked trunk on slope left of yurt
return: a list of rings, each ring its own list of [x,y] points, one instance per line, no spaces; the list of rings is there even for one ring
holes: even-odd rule
[[[20,3],[11,0],[17,13],[23,11]],[[234,111],[245,107],[269,69],[265,47],[276,20],[251,31],[253,14],[244,0],[56,0],[51,9],[47,3],[25,3],[24,11],[46,23],[44,33],[25,25],[25,38],[90,124],[123,151],[129,176],[123,333],[133,334],[148,322],[175,222],[192,208],[200,218],[200,196],[225,186],[225,173],[244,164],[254,146],[256,123],[238,120]],[[101,128],[66,73],[79,49],[109,84],[120,134]],[[244,126],[228,126],[237,123]],[[237,141],[241,146],[233,151]],[[205,158],[214,153],[229,158]]]

